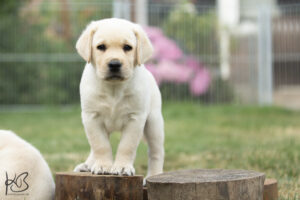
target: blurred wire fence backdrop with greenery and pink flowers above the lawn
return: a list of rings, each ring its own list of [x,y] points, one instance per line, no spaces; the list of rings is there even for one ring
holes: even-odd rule
[[[296,0],[2,0],[0,105],[78,104],[91,20],[140,23],[163,98],[300,108]],[[259,6],[258,6],[259,5]]]

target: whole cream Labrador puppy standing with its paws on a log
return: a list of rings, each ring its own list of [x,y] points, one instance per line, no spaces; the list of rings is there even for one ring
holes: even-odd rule
[[[143,65],[153,52],[146,33],[122,19],[93,21],[79,37],[76,49],[87,62],[80,97],[91,152],[74,171],[134,175],[136,150],[144,135],[149,148],[147,177],[162,173],[161,95]],[[121,132],[115,160],[109,142],[114,131]]]

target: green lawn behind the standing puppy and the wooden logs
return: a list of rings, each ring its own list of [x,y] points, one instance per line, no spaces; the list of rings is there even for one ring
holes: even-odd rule
[[[276,107],[165,103],[165,171],[189,168],[249,169],[279,181],[280,199],[300,199],[300,112]],[[89,152],[79,107],[0,112],[11,129],[37,147],[53,173],[70,171]],[[111,141],[115,149],[119,134]],[[135,168],[147,169],[141,143]]]

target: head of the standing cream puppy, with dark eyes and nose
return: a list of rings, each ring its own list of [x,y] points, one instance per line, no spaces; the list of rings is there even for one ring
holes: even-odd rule
[[[106,81],[129,79],[135,67],[144,64],[153,52],[143,29],[122,19],[90,23],[79,37],[76,49],[93,64],[97,76]]]

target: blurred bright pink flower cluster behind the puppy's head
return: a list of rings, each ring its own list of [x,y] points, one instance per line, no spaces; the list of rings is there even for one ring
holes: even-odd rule
[[[189,84],[194,96],[204,94],[211,81],[209,71],[196,58],[185,56],[176,42],[167,38],[161,29],[144,27],[153,47],[152,62],[146,68],[153,74],[158,84],[173,82]]]

